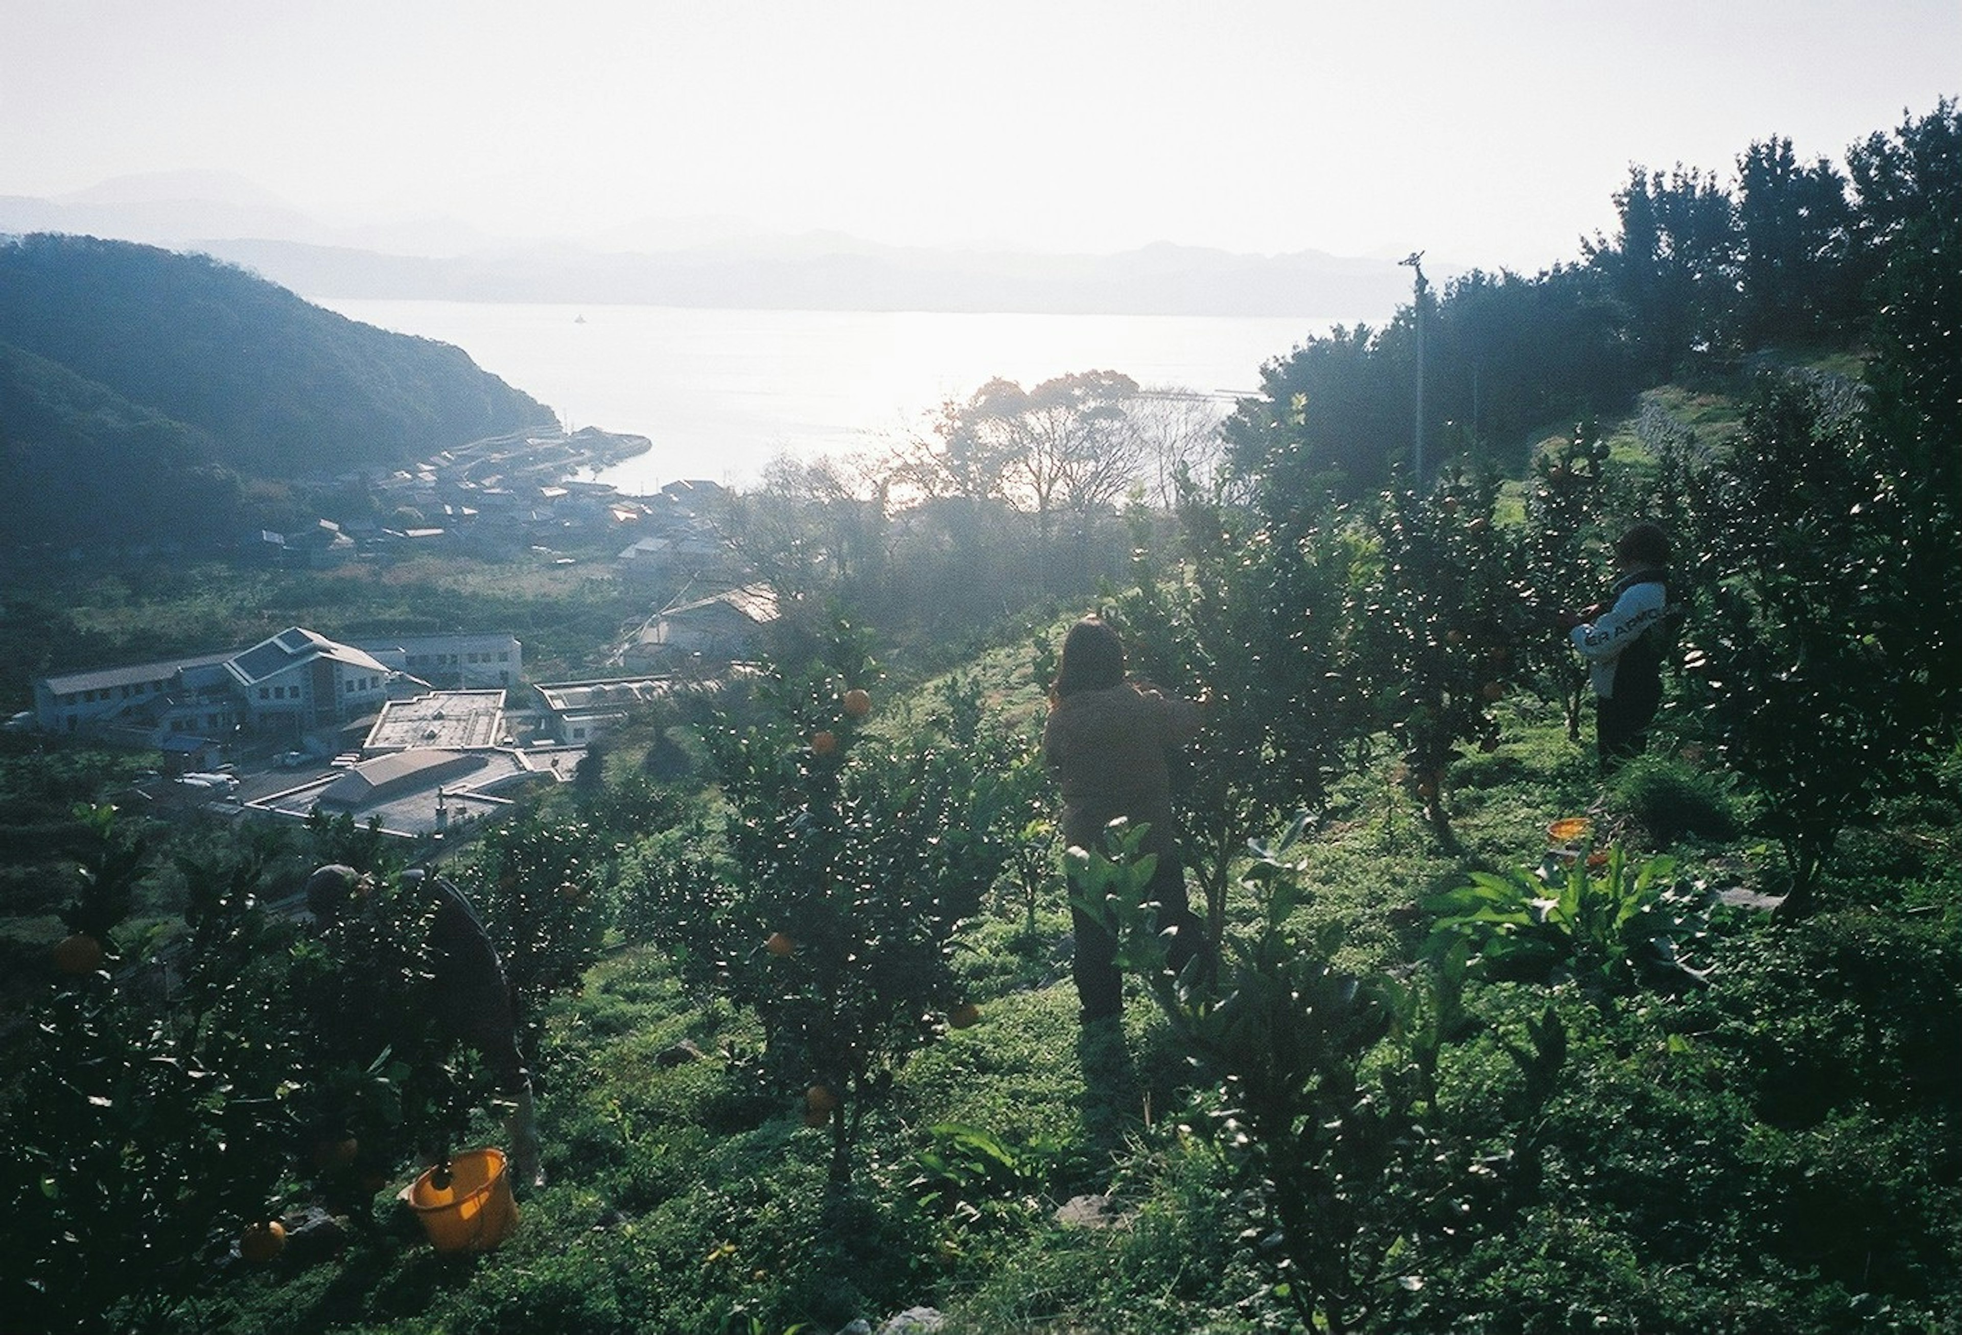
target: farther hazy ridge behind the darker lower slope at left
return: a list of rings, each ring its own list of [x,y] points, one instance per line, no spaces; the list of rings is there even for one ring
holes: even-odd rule
[[[210,463],[253,477],[390,465],[555,426],[459,347],[347,320],[208,255],[128,241],[0,243],[0,342],[202,432]]]

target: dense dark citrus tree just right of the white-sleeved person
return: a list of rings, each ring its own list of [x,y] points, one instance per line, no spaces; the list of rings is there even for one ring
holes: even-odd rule
[[[1838,834],[1909,779],[1940,719],[1948,634],[1929,620],[1946,546],[1911,540],[1946,501],[1897,475],[1864,402],[1825,379],[1766,383],[1709,491],[1719,579],[1691,681],[1725,760],[1762,803],[1789,868],[1785,913],[1813,907]]]

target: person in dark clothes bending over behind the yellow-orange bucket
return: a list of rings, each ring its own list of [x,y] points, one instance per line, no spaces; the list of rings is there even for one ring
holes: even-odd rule
[[[538,1127],[532,1111],[532,1076],[518,1050],[518,1023],[510,984],[496,946],[477,909],[441,876],[404,872],[402,883],[418,887],[430,903],[426,960],[430,970],[432,1019],[445,1041],[463,1042],[483,1056],[496,1078],[500,1097],[512,1101],[504,1121],[510,1143],[512,1178],[543,1186],[538,1162]],[[306,907],[322,923],[336,921],[355,899],[365,899],[373,878],[353,868],[330,864],[306,881]],[[387,1025],[388,1019],[383,1017]]]

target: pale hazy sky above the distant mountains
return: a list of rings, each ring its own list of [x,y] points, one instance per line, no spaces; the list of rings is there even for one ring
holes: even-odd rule
[[[1534,271],[1630,161],[1838,161],[1958,92],[1962,0],[0,0],[0,194]]]

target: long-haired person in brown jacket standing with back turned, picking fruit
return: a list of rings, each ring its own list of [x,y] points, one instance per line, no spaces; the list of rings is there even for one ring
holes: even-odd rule
[[[1171,821],[1169,758],[1199,732],[1201,707],[1124,675],[1124,644],[1097,616],[1085,616],[1063,638],[1063,656],[1050,689],[1050,719],[1042,728],[1042,758],[1063,793],[1063,840],[1103,852],[1105,827],[1118,817],[1148,825],[1140,852],[1158,854],[1148,899],[1158,923],[1173,929],[1171,968],[1183,968],[1199,948],[1203,929],[1185,895],[1185,870]],[[1095,1023],[1124,1007],[1116,968],[1116,938],[1095,917],[1071,905],[1075,958],[1071,972],[1079,1019]]]

